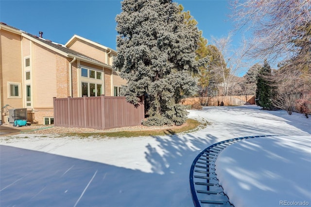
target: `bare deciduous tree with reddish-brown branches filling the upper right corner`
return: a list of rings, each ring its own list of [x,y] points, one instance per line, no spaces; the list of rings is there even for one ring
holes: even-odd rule
[[[251,32],[247,54],[280,63],[273,104],[292,113],[294,96],[311,93],[311,0],[235,0],[237,29]]]

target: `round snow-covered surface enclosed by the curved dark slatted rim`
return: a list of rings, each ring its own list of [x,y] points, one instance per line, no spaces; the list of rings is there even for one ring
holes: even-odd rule
[[[243,140],[219,155],[216,173],[233,205],[234,202],[254,207],[279,206],[280,201],[310,202],[310,147],[309,136]]]

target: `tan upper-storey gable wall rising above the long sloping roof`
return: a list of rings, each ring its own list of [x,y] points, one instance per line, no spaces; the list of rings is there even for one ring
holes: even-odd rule
[[[69,48],[82,54],[86,54],[87,56],[92,57],[95,60],[101,61],[102,63],[106,63],[105,50],[86,41],[78,39]]]

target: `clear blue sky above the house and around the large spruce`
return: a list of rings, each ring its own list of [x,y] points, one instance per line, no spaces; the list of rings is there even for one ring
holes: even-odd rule
[[[199,30],[223,37],[232,29],[226,0],[174,0],[198,21]],[[80,35],[116,49],[115,17],[121,13],[120,0],[0,0],[0,21],[8,25],[65,44]],[[233,38],[238,45],[239,37]]]

